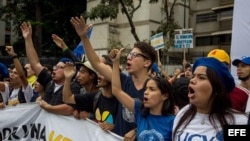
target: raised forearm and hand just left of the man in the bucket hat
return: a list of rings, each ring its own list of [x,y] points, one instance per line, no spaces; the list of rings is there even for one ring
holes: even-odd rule
[[[71,91],[70,84],[76,70],[72,63],[66,63],[64,66],[64,87],[63,87],[63,101],[68,104],[75,104],[75,96]]]

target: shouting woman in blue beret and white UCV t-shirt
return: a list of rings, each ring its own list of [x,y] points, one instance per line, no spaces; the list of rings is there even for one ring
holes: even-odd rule
[[[215,58],[199,58],[192,72],[190,104],[176,115],[173,140],[222,141],[225,125],[247,124],[247,116],[232,109],[229,93],[235,83],[225,64]]]

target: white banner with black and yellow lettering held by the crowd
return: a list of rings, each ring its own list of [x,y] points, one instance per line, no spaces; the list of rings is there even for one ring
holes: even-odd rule
[[[0,109],[0,140],[7,141],[122,141],[91,120],[48,113],[36,103]]]

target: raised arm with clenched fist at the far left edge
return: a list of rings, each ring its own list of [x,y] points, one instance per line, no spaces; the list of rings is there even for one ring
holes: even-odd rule
[[[22,86],[24,88],[26,88],[28,86],[28,80],[25,76],[24,70],[23,70],[23,66],[20,63],[17,54],[15,53],[13,46],[6,46],[5,50],[7,51],[7,53],[12,57],[16,71],[18,76],[20,77],[21,81],[22,81]]]

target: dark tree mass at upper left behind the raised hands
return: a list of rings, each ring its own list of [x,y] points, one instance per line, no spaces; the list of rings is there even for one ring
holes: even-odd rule
[[[3,0],[0,0],[2,3]],[[33,41],[40,55],[55,56],[58,50],[51,34],[63,37],[69,47],[75,47],[79,39],[69,20],[86,10],[86,0],[6,0],[6,5],[0,5],[1,20],[13,23],[14,32],[20,35],[19,26],[22,21],[30,21],[33,27]],[[20,36],[21,37],[21,36]],[[19,39],[23,41],[22,38]],[[19,44],[22,42],[18,41]],[[15,47],[15,45],[14,45]],[[17,48],[19,51],[23,49]],[[55,53],[56,52],[56,53]],[[60,55],[60,53],[59,53]]]

